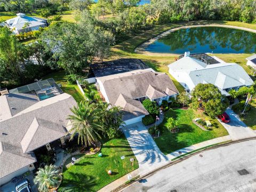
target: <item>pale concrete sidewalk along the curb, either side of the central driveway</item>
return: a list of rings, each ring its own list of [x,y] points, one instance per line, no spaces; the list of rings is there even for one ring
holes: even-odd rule
[[[223,136],[223,137],[211,139],[211,140],[208,140],[208,141],[204,141],[204,142],[201,142],[201,143],[197,143],[197,144],[195,144],[195,145],[193,145],[193,146],[185,147],[185,148],[183,148],[183,149],[174,151],[173,153],[166,155],[166,157],[167,157],[167,159],[168,159],[167,163],[162,164],[162,165],[160,165],[160,166],[158,166],[158,167],[155,167],[155,170],[159,169],[160,167],[162,167],[162,166],[164,166],[164,165],[167,165],[167,164],[171,163],[172,161],[175,161],[174,158],[176,158],[176,157],[179,157],[179,156],[181,156],[181,155],[184,155],[184,154],[186,154],[186,153],[189,153],[189,152],[194,151],[194,150],[197,150],[197,149],[201,149],[201,148],[203,148],[203,147],[215,145],[215,144],[217,144],[217,143],[226,142],[226,141],[230,141],[230,140],[231,140],[230,136],[229,136],[229,135],[226,135],[226,136]],[[179,152],[181,152],[181,154],[179,154]],[[173,159],[174,159],[174,160],[173,160]],[[154,171],[154,170],[150,170],[149,172],[153,172],[153,171]],[[148,173],[149,173],[149,172],[148,172]],[[144,175],[146,175],[146,174],[148,174],[148,173],[145,173]],[[132,172],[130,172],[130,173],[124,175],[123,177],[121,177],[121,178],[119,178],[119,179],[117,179],[117,180],[115,180],[115,181],[109,183],[109,185],[107,185],[107,186],[101,188],[101,189],[99,190],[99,192],[105,192],[105,191],[110,192],[110,191],[113,191],[113,190],[117,189],[118,187],[124,185],[125,182],[129,181],[129,180],[128,180],[128,175],[129,175],[129,174],[132,175],[132,178],[138,177],[138,176],[143,177],[143,175],[139,175],[139,169],[134,170],[134,171],[132,171]]]

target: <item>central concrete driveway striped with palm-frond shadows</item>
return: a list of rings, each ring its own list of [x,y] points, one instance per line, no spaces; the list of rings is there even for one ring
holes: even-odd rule
[[[141,122],[127,125],[122,129],[139,162],[140,175],[169,162]]]

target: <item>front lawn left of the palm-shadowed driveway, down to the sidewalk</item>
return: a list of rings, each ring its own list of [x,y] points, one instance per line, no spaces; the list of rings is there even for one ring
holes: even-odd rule
[[[95,155],[77,155],[79,161],[63,170],[63,181],[58,191],[97,191],[123,175],[138,169],[138,161],[131,166],[129,159],[135,156],[125,137],[103,143],[102,157]],[[120,157],[125,155],[122,160]],[[66,162],[70,163],[69,158]],[[107,171],[111,170],[112,175]]]

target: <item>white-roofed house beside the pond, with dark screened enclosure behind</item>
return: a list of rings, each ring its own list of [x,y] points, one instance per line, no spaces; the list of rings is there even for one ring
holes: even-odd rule
[[[198,83],[211,83],[222,94],[229,96],[229,90],[238,90],[242,86],[253,84],[246,71],[236,63],[226,63],[217,57],[205,53],[186,52],[169,66],[169,73],[188,91]]]

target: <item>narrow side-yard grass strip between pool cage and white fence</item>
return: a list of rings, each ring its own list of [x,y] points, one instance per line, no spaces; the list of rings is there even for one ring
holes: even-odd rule
[[[60,70],[44,76],[43,79],[53,78],[55,82],[61,83],[62,85],[61,89],[63,92],[72,95],[77,102],[82,101],[84,97],[81,91],[79,90],[78,86],[76,84],[69,85],[65,79],[65,75],[66,75],[65,71]]]

